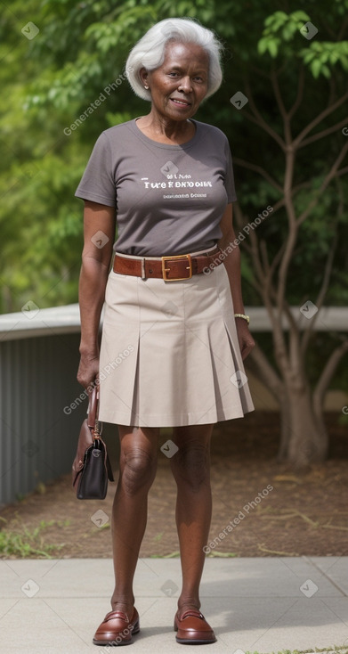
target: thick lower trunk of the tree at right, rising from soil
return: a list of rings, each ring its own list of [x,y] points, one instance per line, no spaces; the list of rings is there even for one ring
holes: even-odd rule
[[[296,469],[322,462],[328,454],[328,433],[322,413],[314,413],[309,390],[287,388],[287,401],[280,405],[281,441],[279,461]]]

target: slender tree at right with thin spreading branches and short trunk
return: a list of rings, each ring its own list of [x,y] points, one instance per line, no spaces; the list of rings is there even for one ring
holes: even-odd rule
[[[280,155],[275,156],[276,165],[270,165],[266,158],[264,163],[260,162],[260,157],[247,160],[238,157],[234,161],[261,176],[278,196],[271,218],[267,217],[262,227],[251,229],[249,241],[243,242],[254,270],[251,283],[271,319],[276,365],[271,364],[257,345],[251,356],[251,367],[279,402],[279,458],[295,466],[304,466],[322,461],[328,453],[324,396],[337,364],[348,351],[346,334],[337,334],[338,344],[328,360],[323,362],[319,379],[311,388],[306,355],[312,345],[320,308],[329,297],[337,241],[343,235],[343,226],[346,228],[347,225],[344,213],[347,191],[343,180],[348,173],[348,139],[345,137],[348,130],[344,108],[348,93],[344,75],[339,69],[348,70],[348,42],[341,40],[347,20],[339,24],[336,33],[329,30],[332,40],[316,41],[313,34],[313,40],[305,47],[298,47],[300,31],[309,38],[308,31],[312,37],[317,29],[308,14],[302,11],[275,12],[264,21],[264,25],[258,51],[264,59],[268,55],[269,64],[267,70],[255,72],[262,76],[263,84],[270,89],[270,101],[277,107],[279,120],[278,124],[272,125],[258,106],[257,85],[253,88],[252,74],[245,78],[249,110],[243,109],[243,118],[262,130],[268,141],[276,143]],[[297,88],[293,102],[287,103],[283,89],[287,81],[293,81],[294,68],[298,70]],[[316,80],[320,75],[328,80],[325,85],[327,93],[322,97],[316,94]],[[320,91],[325,86],[321,84]],[[303,109],[303,103],[312,92],[316,94],[317,102],[309,111]],[[301,109],[301,119],[294,126],[295,114]],[[329,136],[331,143],[328,142]],[[267,149],[271,149],[268,144]],[[308,171],[303,175],[305,162],[310,167],[310,176]],[[259,216],[263,219],[264,214]],[[325,216],[331,217],[329,224]],[[250,222],[240,207],[237,208],[237,218],[241,229]],[[275,227],[278,233],[274,232]],[[323,230],[321,234],[320,229]],[[312,243],[309,239],[313,239]],[[316,253],[311,252],[313,243]],[[310,268],[315,283],[306,280],[312,294],[310,297],[304,295],[298,302],[298,317],[301,305],[303,315],[307,312],[299,322],[290,310],[290,300],[296,295],[295,285],[299,288],[297,298],[302,296],[300,282],[306,260],[312,266],[317,262],[320,269]],[[304,301],[311,298],[315,298],[311,304]],[[284,330],[285,319],[288,332]]]

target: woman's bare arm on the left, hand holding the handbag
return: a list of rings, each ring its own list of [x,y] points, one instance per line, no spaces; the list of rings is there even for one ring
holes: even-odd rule
[[[81,359],[77,372],[77,381],[84,388],[95,380],[99,372],[98,331],[115,240],[115,225],[115,208],[85,200],[84,249],[78,286]],[[95,236],[98,232],[101,234]]]

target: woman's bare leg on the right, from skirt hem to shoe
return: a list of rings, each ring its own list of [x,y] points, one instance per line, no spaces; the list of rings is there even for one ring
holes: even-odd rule
[[[177,484],[176,526],[182,561],[183,609],[200,609],[199,584],[205,562],[206,545],[212,516],[210,487],[210,438],[214,425],[175,427],[173,440],[179,447],[171,458]]]

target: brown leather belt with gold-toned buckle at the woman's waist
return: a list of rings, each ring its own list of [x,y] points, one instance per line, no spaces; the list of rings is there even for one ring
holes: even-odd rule
[[[160,258],[125,258],[116,254],[113,271],[118,274],[133,274],[142,279],[157,277],[165,282],[178,282],[190,279],[192,274],[200,274],[206,269],[219,266],[223,260],[216,258],[219,253],[220,248],[216,247],[208,254],[197,256],[182,254]]]

